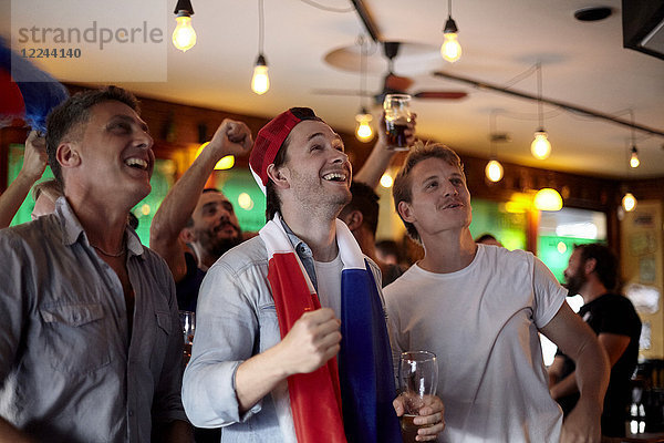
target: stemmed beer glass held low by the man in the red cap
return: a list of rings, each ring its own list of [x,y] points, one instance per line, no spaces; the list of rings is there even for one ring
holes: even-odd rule
[[[438,385],[438,362],[436,354],[428,351],[407,351],[401,354],[398,362],[398,384],[404,401],[404,414],[401,416],[404,442],[415,442],[419,427],[413,423],[419,415],[419,409],[426,404],[426,398],[436,394]]]

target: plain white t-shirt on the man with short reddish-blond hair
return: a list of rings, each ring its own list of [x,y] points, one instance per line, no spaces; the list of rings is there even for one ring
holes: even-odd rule
[[[562,414],[547,387],[538,328],[567,290],[530,253],[479,245],[466,268],[417,265],[383,289],[395,364],[406,350],[437,356],[445,403],[439,442],[558,442]]]

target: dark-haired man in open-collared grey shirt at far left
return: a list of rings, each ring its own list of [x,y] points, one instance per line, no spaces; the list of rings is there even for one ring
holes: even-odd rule
[[[50,115],[64,197],[0,231],[0,442],[190,441],[173,279],[126,224],[151,190],[152,145],[118,87]]]

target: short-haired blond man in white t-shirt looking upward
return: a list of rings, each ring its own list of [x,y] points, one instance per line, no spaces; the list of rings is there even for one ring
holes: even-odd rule
[[[425,249],[384,289],[393,354],[438,357],[446,421],[438,440],[599,442],[606,357],[538,258],[473,240],[456,153],[416,144],[393,195],[408,235]],[[547,388],[538,331],[577,361],[582,400],[564,423]]]

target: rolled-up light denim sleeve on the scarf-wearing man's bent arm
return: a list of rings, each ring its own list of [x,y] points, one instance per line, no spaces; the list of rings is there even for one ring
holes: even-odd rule
[[[258,402],[240,414],[235,389],[238,367],[258,353],[259,324],[252,301],[258,298],[248,296],[242,280],[218,261],[200,287],[191,360],[183,381],[185,411],[199,427],[242,422],[261,410]]]

